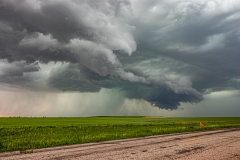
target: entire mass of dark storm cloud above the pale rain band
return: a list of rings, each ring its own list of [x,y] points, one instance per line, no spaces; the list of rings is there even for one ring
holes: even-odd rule
[[[165,109],[199,102],[201,93],[239,89],[239,6],[237,0],[3,0],[0,58],[8,61],[1,61],[1,82],[24,86],[31,73],[41,73],[36,62],[64,62],[48,68],[49,87],[121,88],[127,98]]]

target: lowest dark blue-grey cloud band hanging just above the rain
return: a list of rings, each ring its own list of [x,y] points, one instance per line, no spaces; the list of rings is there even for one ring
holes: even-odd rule
[[[170,87],[159,87],[154,84],[142,84],[122,81],[110,76],[100,76],[95,72],[78,65],[63,65],[52,70],[49,86],[62,91],[99,92],[101,88],[120,88],[129,99],[144,99],[152,105],[177,109],[180,102],[197,103],[202,100],[195,90],[186,94],[176,94]]]

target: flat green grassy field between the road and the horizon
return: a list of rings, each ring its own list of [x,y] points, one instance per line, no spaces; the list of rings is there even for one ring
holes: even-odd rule
[[[0,152],[228,127],[240,117],[0,118]]]

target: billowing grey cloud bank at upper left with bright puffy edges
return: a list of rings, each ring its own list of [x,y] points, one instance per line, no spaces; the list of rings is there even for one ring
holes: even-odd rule
[[[19,32],[19,39],[10,46],[2,40],[2,57],[7,56],[6,48],[12,46],[14,48],[8,56],[13,61],[21,58],[43,63],[73,61],[73,54],[78,63],[100,75],[111,74],[124,80],[146,83],[144,77],[125,72],[112,52],[122,50],[131,55],[136,44],[129,33],[131,26],[115,22],[115,13],[112,12],[115,6],[111,3],[24,0],[18,4],[15,1],[1,3],[2,23]],[[9,37],[6,38],[10,39],[12,34],[7,34]]]

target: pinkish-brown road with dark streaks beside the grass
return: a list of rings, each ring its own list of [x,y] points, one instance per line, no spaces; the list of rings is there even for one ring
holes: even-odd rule
[[[240,128],[0,153],[7,159],[240,159]]]

